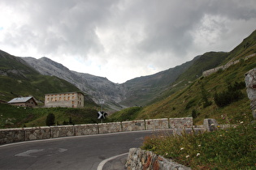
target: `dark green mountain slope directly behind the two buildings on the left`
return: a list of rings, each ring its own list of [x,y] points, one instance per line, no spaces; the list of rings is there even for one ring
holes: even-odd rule
[[[0,99],[11,100],[17,96],[34,96],[43,102],[51,92],[80,91],[71,83],[54,76],[45,76],[28,66],[20,57],[0,50]]]

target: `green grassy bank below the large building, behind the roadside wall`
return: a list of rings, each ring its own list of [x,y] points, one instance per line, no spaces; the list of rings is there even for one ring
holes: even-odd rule
[[[0,129],[44,126],[49,113],[55,116],[54,125],[98,123],[97,112],[94,108],[23,108],[0,104]]]

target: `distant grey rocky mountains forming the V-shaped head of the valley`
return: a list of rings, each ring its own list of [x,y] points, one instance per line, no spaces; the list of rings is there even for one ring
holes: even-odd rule
[[[98,100],[103,99],[110,108],[119,110],[133,105],[144,105],[150,99],[154,99],[154,96],[158,96],[158,93],[169,87],[199,57],[197,56],[192,61],[185,62],[180,66],[163,70],[156,74],[131,79],[122,84],[112,83],[106,78],[92,74],[69,70],[62,64],[54,62],[47,57],[39,59],[23,57],[23,59],[41,74],[54,75],[64,79],[89,95],[94,102],[98,103]]]

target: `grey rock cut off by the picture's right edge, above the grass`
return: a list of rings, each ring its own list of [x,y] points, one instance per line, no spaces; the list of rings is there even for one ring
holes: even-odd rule
[[[250,100],[250,108],[252,109],[254,119],[256,119],[256,68],[249,70],[245,74],[245,85],[247,96]]]

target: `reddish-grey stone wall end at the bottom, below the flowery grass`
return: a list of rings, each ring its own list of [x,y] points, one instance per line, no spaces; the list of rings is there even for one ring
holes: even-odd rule
[[[141,150],[140,148],[131,148],[129,150],[128,159],[125,164],[128,170],[144,170],[144,169],[177,169],[190,170],[191,168],[177,164],[171,159],[165,159],[163,156],[156,155],[152,151]]]

